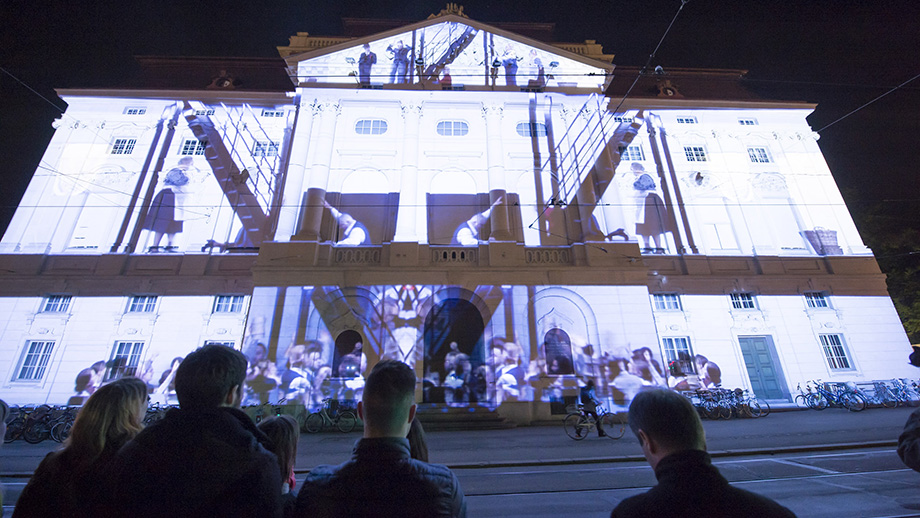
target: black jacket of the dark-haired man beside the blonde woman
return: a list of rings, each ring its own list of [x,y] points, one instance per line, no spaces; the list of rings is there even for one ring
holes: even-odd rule
[[[110,516],[281,516],[268,438],[235,408],[172,409],[115,458]]]

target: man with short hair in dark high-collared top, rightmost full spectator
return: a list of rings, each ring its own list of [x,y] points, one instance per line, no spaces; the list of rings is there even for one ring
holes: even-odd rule
[[[706,453],[696,409],[680,394],[665,389],[639,392],[629,405],[629,427],[658,485],[620,502],[611,518],[795,516],[765,496],[729,485]]]

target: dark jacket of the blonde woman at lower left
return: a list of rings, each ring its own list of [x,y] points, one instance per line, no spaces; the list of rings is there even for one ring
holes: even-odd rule
[[[45,456],[22,490],[14,518],[95,517],[106,495],[102,488],[121,443],[113,445],[88,466],[81,466],[66,450]]]

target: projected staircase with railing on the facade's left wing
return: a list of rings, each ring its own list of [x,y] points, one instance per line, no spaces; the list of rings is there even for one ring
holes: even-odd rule
[[[222,250],[228,245],[258,247],[262,243],[268,222],[267,212],[274,195],[280,143],[269,144],[266,148],[262,143],[271,143],[272,140],[262,127],[258,126],[257,131],[261,134],[257,134],[242,122],[243,114],[249,113],[258,125],[258,118],[252,114],[248,105],[230,109],[221,103],[221,108],[215,110],[213,116],[197,115],[191,104],[185,103],[185,119],[189,128],[198,140],[206,143],[205,159],[214,171],[214,178],[220,184],[227,202],[243,225],[243,231],[235,243],[209,241],[209,245]],[[234,115],[238,116],[237,120],[234,120]],[[223,134],[218,128],[223,130]],[[257,149],[257,146],[261,147]],[[246,152],[245,158],[240,149]],[[243,165],[242,171],[237,164]]]

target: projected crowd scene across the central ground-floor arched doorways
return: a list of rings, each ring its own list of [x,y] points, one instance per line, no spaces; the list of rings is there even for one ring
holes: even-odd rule
[[[413,366],[422,401],[448,406],[561,401],[589,378],[618,405],[668,386],[657,344],[631,347],[645,338],[615,319],[589,323],[585,303],[563,288],[259,287],[244,338],[247,393],[310,408],[324,398],[351,401],[383,359]]]

